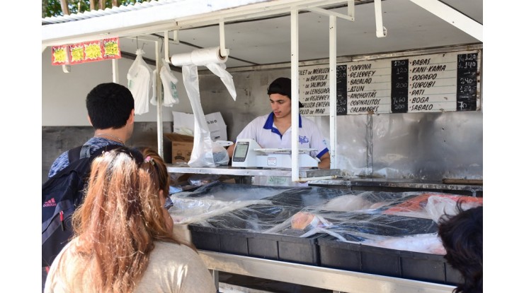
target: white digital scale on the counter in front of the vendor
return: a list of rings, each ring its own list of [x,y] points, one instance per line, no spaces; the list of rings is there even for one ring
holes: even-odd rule
[[[298,155],[299,168],[318,168],[320,160],[309,152],[313,148],[301,148]],[[291,168],[290,148],[261,148],[251,138],[240,138],[234,147],[232,167],[243,168]]]

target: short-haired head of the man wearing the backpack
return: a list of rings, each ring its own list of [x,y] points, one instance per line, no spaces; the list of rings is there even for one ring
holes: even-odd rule
[[[127,127],[131,137],[135,121],[135,99],[132,93],[118,83],[96,85],[86,97],[87,114],[95,129]]]

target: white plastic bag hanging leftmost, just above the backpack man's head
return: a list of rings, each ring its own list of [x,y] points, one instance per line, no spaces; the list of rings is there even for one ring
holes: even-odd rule
[[[153,71],[142,58],[144,50],[137,49],[137,59],[127,71],[127,88],[135,98],[135,114],[149,112],[149,88]]]

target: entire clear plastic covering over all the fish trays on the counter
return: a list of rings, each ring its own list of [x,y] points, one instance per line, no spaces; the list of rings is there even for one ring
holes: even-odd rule
[[[448,193],[347,191],[215,182],[171,196],[174,217],[235,232],[321,237],[389,249],[444,254],[438,220],[482,198]],[[303,226],[298,225],[301,217]],[[305,221],[305,222],[304,222]]]

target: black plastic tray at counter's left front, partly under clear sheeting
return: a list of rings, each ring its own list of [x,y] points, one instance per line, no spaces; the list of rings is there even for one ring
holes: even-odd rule
[[[279,234],[263,233],[299,210],[281,205],[249,205],[210,217],[205,225],[190,224],[188,228],[197,249],[318,265],[318,236],[301,238],[303,232],[293,229],[284,229]]]

